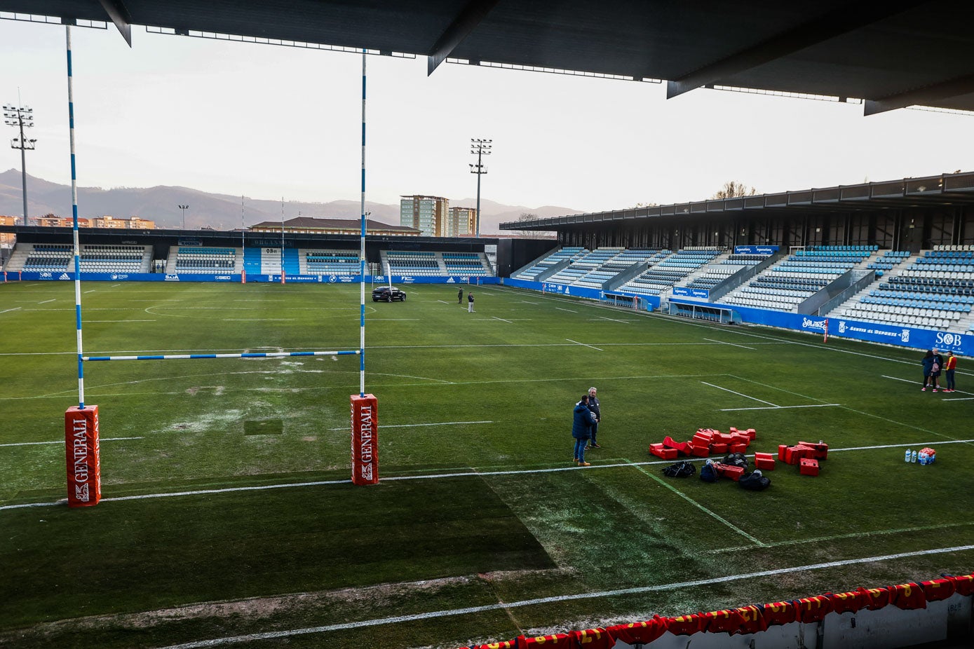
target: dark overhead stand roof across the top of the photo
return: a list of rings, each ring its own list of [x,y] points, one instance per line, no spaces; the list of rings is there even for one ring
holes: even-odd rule
[[[0,12],[974,110],[969,0],[0,0]]]

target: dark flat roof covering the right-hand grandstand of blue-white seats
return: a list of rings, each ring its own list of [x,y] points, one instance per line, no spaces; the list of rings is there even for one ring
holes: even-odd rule
[[[974,173],[947,173],[924,178],[904,178],[861,185],[839,185],[778,194],[737,198],[713,198],[694,202],[622,209],[592,214],[555,216],[535,221],[508,221],[501,230],[564,230],[593,223],[613,225],[637,219],[699,216],[727,217],[746,214],[768,217],[813,211],[851,212],[907,209],[937,205],[974,204]]]

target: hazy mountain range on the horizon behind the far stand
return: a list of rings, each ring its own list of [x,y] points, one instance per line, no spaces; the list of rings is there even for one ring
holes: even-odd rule
[[[243,204],[242,204],[243,202]],[[78,188],[78,214],[82,217],[111,215],[119,219],[137,216],[155,221],[157,228],[179,228],[183,214],[177,205],[189,205],[186,228],[234,230],[262,221],[281,221],[281,201],[263,198],[244,198],[225,194],[210,194],[188,187],[157,186],[149,188],[121,187],[110,190],[99,187]],[[475,207],[475,198],[450,200],[451,206]],[[242,210],[243,208],[243,210]],[[288,200],[283,204],[285,219],[310,216],[331,219],[358,219],[359,200],[331,200],[302,202]],[[23,211],[21,175],[17,169],[0,173],[0,214],[19,216]],[[30,216],[55,214],[71,216],[71,187],[59,185],[27,174],[27,211]],[[242,213],[243,211],[243,213]],[[391,225],[399,223],[399,205],[365,201],[370,218]],[[555,205],[525,207],[505,205],[480,199],[480,234],[511,234],[501,231],[499,224],[516,221],[521,214],[535,214],[538,218],[581,214],[580,210]]]

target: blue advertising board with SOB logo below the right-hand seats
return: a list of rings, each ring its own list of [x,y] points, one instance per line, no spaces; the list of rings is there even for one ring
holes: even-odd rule
[[[671,300],[674,304],[694,305],[693,302]],[[933,329],[917,329],[915,327],[897,327],[880,322],[864,322],[847,318],[825,317],[821,315],[804,315],[802,313],[785,313],[765,308],[750,306],[708,304],[716,308],[727,308],[738,313],[744,322],[751,324],[805,331],[814,334],[825,334],[828,326],[829,336],[838,336],[854,341],[867,343],[894,344],[901,347],[916,349],[931,349],[936,347],[941,351],[953,351],[955,354],[968,356],[974,354],[974,336],[956,334],[954,332],[937,331]],[[826,323],[828,323],[826,325]]]

